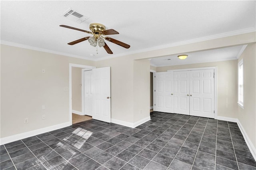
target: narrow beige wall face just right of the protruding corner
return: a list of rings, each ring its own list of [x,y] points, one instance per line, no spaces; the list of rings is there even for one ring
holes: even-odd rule
[[[137,122],[150,116],[150,61],[134,60],[133,76],[133,122]]]

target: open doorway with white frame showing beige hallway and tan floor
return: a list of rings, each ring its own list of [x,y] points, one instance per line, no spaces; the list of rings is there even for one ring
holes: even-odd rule
[[[82,100],[82,69],[93,69],[93,66],[71,64],[69,66],[69,96],[70,96],[70,124],[76,124],[92,119],[85,115]]]

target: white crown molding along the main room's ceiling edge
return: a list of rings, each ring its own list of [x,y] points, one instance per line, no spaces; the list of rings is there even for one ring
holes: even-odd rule
[[[3,41],[3,40],[1,40],[0,43],[4,44],[4,45],[14,46],[14,47],[20,47],[20,48],[32,49],[32,50],[36,50],[36,51],[43,51],[43,52],[47,52],[47,53],[65,55],[65,56],[68,56],[68,57],[87,59],[87,60],[91,60],[91,61],[100,61],[100,60],[110,59],[110,58],[114,58],[114,57],[120,57],[120,56],[124,56],[124,55],[131,55],[131,54],[135,54],[135,53],[142,53],[142,52],[146,52],[146,51],[164,49],[164,48],[168,48],[168,47],[175,47],[175,46],[186,45],[186,44],[190,44],[190,43],[197,43],[197,42],[203,42],[203,41],[207,41],[207,40],[214,40],[214,39],[217,39],[217,38],[236,36],[236,35],[239,35],[239,34],[246,34],[246,33],[250,33],[250,32],[255,32],[255,28],[251,27],[251,28],[246,28],[246,29],[242,29],[242,30],[236,30],[236,31],[225,32],[225,33],[221,33],[221,34],[215,34],[215,35],[212,35],[212,36],[195,38],[195,39],[192,39],[192,40],[186,40],[186,41],[182,41],[182,42],[170,43],[170,44],[160,45],[160,46],[146,48],[146,49],[139,49],[139,50],[136,50],[136,51],[130,51],[130,52],[120,53],[120,54],[116,54],[116,55],[107,55],[105,57],[101,57],[101,58],[98,58],[98,59],[84,57],[84,56],[80,56],[80,55],[73,55],[73,54],[69,54],[69,53],[63,53],[63,52],[60,52],[60,51],[52,51],[52,50],[49,50],[49,49],[43,49],[43,48],[33,47],[33,46],[30,46],[30,45],[23,45],[23,44],[19,44],[19,43],[7,42],[7,41]]]

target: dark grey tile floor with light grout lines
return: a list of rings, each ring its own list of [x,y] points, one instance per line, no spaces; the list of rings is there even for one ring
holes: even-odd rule
[[[90,120],[1,145],[8,170],[256,170],[236,123],[152,113],[129,128]]]

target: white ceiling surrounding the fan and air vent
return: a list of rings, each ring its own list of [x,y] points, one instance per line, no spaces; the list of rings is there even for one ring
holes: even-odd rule
[[[90,18],[78,24],[62,17],[70,7]],[[125,49],[108,42],[114,53],[111,55],[104,48],[98,48],[96,54],[96,47],[87,41],[67,44],[90,34],[59,25],[90,31],[88,27],[92,22],[118,31],[120,34],[110,37],[131,47]],[[118,57],[209,36],[242,34],[255,31],[255,28],[256,1],[1,1],[2,44],[91,60]],[[239,47],[227,50],[220,49],[214,53],[223,52],[230,56],[232,53],[234,57]],[[184,61],[197,59],[198,56],[198,61],[202,61],[210,56],[208,53],[191,53]],[[220,56],[223,55],[217,57],[222,58]],[[162,60],[156,62],[158,65],[166,64]]]

